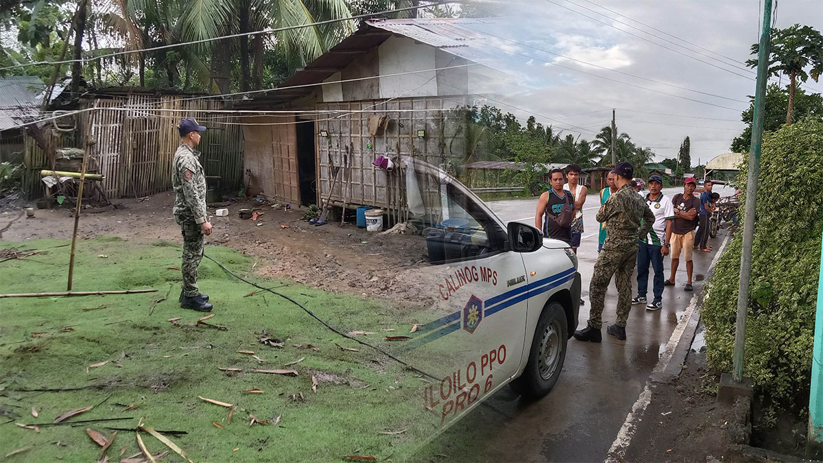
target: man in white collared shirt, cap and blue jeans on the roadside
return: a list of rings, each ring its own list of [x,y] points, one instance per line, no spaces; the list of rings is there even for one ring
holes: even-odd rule
[[[668,254],[669,241],[672,238],[672,220],[674,220],[674,205],[661,191],[663,178],[660,175],[649,177],[649,194],[645,196],[646,204],[654,214],[654,225],[649,235],[640,237],[640,250],[637,253],[637,297],[631,300],[632,304],[646,303],[646,290],[649,287],[649,264],[654,269],[653,294],[654,298],[646,309],[658,311],[663,307],[663,256]]]

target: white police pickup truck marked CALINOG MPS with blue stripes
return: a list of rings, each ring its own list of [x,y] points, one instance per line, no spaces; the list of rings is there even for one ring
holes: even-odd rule
[[[409,239],[428,257],[435,304],[396,353],[436,378],[420,398],[425,409],[447,425],[507,384],[546,395],[578,325],[574,252],[535,227],[502,221],[439,168],[407,160],[407,222],[419,231]]]

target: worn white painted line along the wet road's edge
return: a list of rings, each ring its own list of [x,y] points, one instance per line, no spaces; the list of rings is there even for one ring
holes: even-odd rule
[[[717,255],[714,255],[714,259],[711,264],[709,264],[709,271],[714,269],[714,265],[717,264],[720,255],[723,255],[723,250],[726,248],[726,244],[731,236],[731,234],[726,235],[726,238],[723,240],[723,244],[720,246]],[[666,344],[666,350],[663,351],[663,356],[661,356],[658,365],[654,367],[653,373],[663,372],[663,370],[665,370],[668,366],[668,363],[672,361],[675,348],[677,348],[677,344],[680,344],[680,339],[686,331],[686,325],[689,323],[689,319],[694,313],[695,308],[697,308],[697,296],[698,295],[695,294],[691,297],[689,307],[686,309],[686,312],[683,313],[680,320],[677,321],[677,327],[675,327],[672,332],[672,336]],[[607,463],[625,461],[623,457],[625,456],[625,452],[629,449],[631,438],[635,435],[637,423],[643,419],[644,411],[646,410],[646,407],[649,406],[649,402],[652,400],[652,390],[650,386],[651,381],[646,381],[643,391],[640,392],[639,397],[635,400],[635,404],[631,406],[631,411],[626,415],[623,426],[621,426],[620,431],[617,432],[617,437],[614,442],[611,442],[611,447],[609,448],[608,456],[606,458]],[[620,458],[615,458],[612,455],[619,456]]]

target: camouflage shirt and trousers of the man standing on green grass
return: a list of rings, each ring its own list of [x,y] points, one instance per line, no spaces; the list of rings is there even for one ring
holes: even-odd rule
[[[203,232],[206,222],[206,175],[198,161],[200,152],[180,143],[172,161],[171,185],[174,187],[174,220],[183,232],[183,295],[197,296],[198,265],[203,255]]]

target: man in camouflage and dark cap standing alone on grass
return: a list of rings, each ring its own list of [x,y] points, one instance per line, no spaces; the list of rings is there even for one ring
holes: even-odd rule
[[[203,255],[203,236],[212,234],[206,220],[206,175],[198,161],[200,133],[206,130],[194,119],[182,119],[178,126],[180,146],[172,161],[171,185],[174,187],[174,221],[183,232],[183,291],[180,306],[195,311],[211,311],[208,296],[198,288],[198,265]]]

